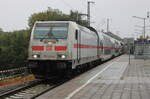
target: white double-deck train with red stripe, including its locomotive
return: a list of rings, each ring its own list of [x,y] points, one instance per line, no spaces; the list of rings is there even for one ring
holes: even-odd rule
[[[77,72],[122,54],[123,42],[72,21],[37,21],[29,44],[36,77]]]

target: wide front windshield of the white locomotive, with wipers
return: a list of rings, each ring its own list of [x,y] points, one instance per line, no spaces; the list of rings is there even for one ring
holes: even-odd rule
[[[67,39],[68,24],[37,23],[34,39]]]

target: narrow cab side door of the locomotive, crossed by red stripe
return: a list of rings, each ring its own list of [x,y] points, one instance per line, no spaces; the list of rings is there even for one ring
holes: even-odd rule
[[[80,57],[81,57],[81,32],[79,30],[76,30],[76,40],[77,40],[77,60],[78,62],[80,61]]]

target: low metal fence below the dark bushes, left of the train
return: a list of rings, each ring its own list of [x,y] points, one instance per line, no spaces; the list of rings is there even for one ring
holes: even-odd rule
[[[0,71],[0,81],[10,79],[10,78],[19,77],[19,76],[23,76],[26,74],[28,74],[28,68],[27,67],[2,70],[2,71]]]

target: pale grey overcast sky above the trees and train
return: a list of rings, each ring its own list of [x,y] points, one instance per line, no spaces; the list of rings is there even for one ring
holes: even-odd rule
[[[132,16],[146,17],[150,11],[150,0],[92,0],[91,17],[93,26],[106,30],[106,19],[110,19],[110,30],[122,37],[136,36],[134,25],[143,25],[143,21]],[[87,0],[0,0],[0,28],[4,31],[25,29],[28,17],[47,10],[48,7],[64,13],[78,10],[86,13]],[[147,25],[150,20],[147,20]],[[150,28],[150,27],[149,27]],[[150,30],[147,31],[150,32]],[[149,33],[150,34],[150,33]]]

